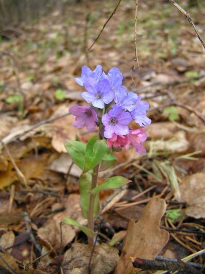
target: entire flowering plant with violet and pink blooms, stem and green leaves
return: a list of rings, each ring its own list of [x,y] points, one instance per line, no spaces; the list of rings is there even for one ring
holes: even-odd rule
[[[122,74],[117,68],[110,69],[107,75],[99,65],[94,71],[83,67],[81,77],[75,80],[85,87],[82,96],[90,106],[75,105],[70,108],[69,112],[76,117],[73,125],[76,128],[86,127],[88,131],[98,127],[99,134],[92,137],[87,145],[79,141],[65,144],[73,162],[83,171],[79,178],[80,206],[88,219],[88,227],[70,218],[65,218],[63,222],[78,226],[88,236],[89,244],[93,245],[94,218],[99,213],[98,193],[129,182],[124,177],[114,176],[97,185],[98,172],[117,162],[112,154],[115,149],[125,147],[128,150],[132,145],[136,153],[145,153],[142,144],[147,139],[145,130],[133,130],[129,123],[134,119],[140,127],[145,127],[151,120],[146,116],[148,102],[141,101],[140,96],[122,86]]]

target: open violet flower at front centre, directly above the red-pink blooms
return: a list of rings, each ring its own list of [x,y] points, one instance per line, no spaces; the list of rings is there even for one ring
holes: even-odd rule
[[[114,104],[113,109],[102,117],[102,122],[105,126],[104,136],[106,138],[112,138],[114,134],[128,134],[128,124],[131,120],[132,116],[130,113],[125,112],[120,106]]]

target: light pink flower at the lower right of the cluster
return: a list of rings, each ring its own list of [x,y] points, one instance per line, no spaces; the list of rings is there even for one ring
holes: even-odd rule
[[[130,144],[136,150],[136,153],[146,153],[146,148],[142,145],[147,139],[147,133],[143,129],[129,130],[128,143],[125,145],[126,150],[129,150]]]

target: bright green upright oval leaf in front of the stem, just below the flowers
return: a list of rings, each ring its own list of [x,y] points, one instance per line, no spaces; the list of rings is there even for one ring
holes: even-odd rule
[[[103,160],[107,152],[106,140],[99,140],[98,136],[93,136],[86,146],[84,173],[90,171]]]

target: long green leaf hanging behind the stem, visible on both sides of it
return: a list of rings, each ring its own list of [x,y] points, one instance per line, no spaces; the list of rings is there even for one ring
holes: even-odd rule
[[[90,173],[83,173],[79,178],[79,191],[80,191],[80,207],[82,209],[83,215],[88,219],[88,210],[89,210],[89,197],[90,194],[88,191],[91,189],[92,175]],[[95,218],[99,213],[99,196],[95,196],[94,203],[94,214]]]

